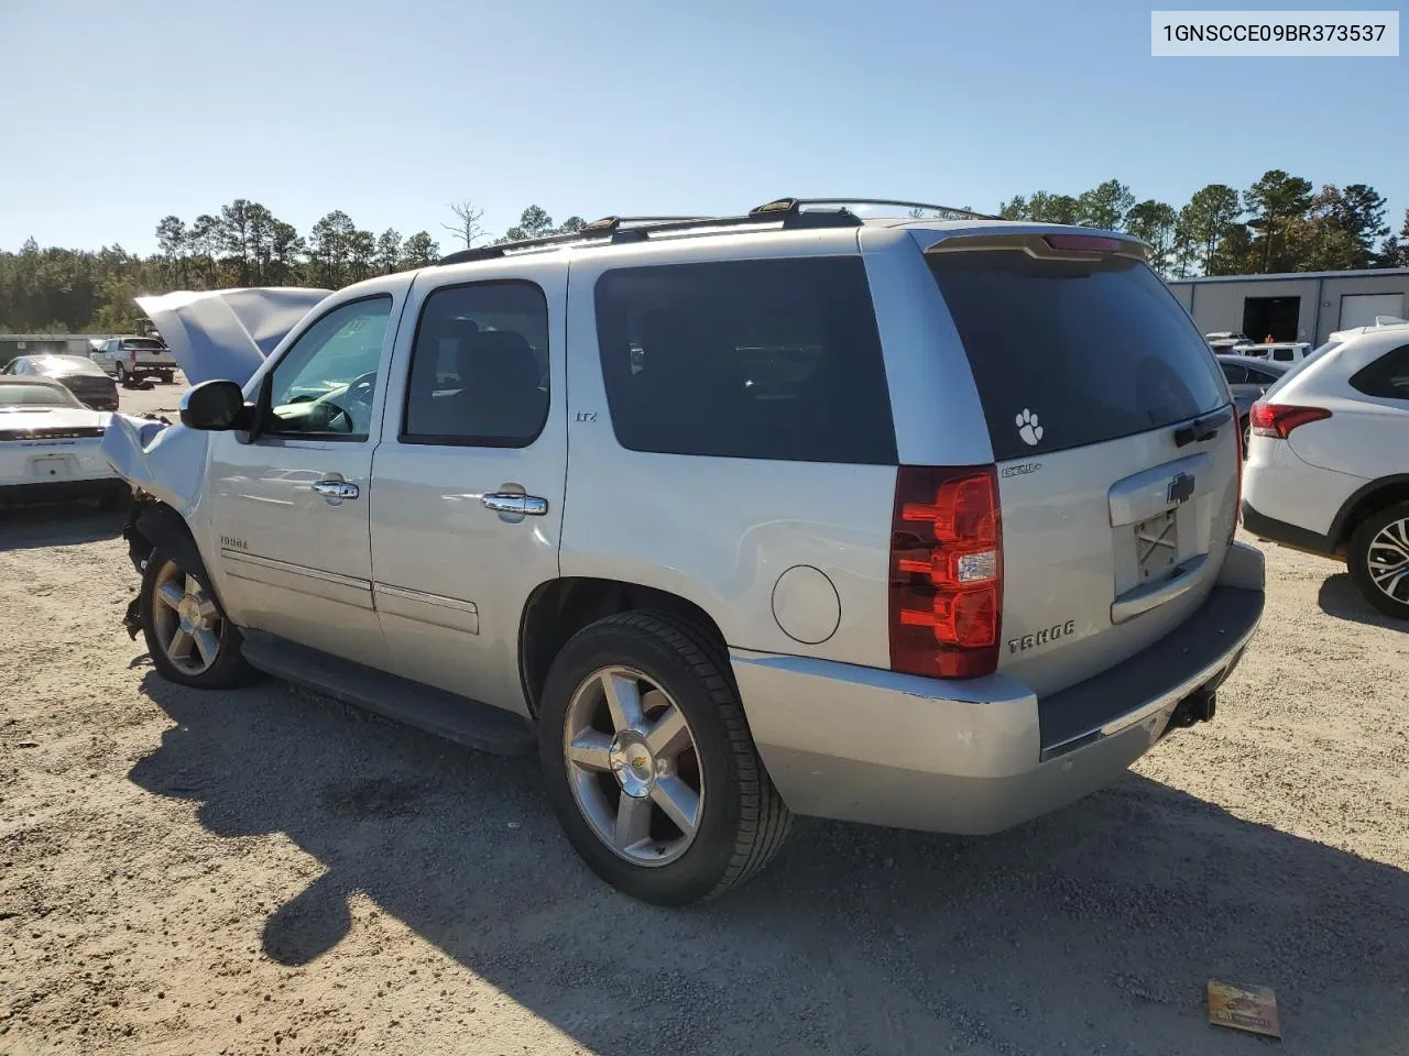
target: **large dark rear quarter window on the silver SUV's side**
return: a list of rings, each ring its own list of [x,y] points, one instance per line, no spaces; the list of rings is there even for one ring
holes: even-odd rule
[[[619,269],[597,280],[596,308],[623,446],[895,463],[861,258]]]

